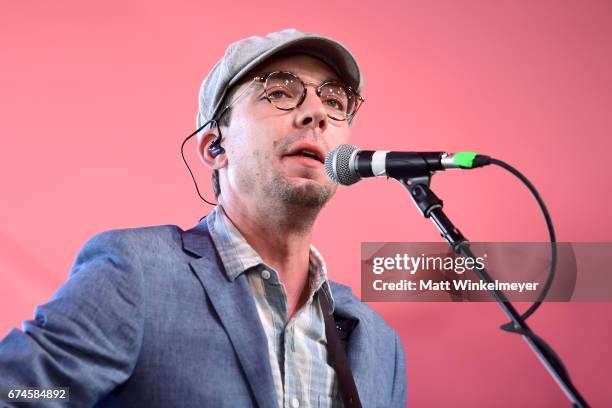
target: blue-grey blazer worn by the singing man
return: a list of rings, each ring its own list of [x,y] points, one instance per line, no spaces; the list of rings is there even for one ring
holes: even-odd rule
[[[363,406],[405,407],[399,337],[350,288],[331,289],[335,318],[354,326],[346,347]],[[23,330],[0,342],[0,390],[67,386],[76,407],[277,406],[246,276],[226,277],[205,221],[93,237]]]

